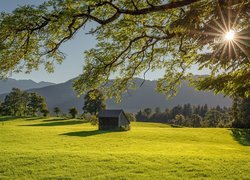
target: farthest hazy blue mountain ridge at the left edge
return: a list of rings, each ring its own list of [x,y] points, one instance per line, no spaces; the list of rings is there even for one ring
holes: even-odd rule
[[[0,94],[9,93],[12,88],[19,88],[21,90],[41,88],[45,86],[54,85],[51,82],[39,82],[36,83],[32,80],[15,80],[15,79],[6,79],[0,80]]]

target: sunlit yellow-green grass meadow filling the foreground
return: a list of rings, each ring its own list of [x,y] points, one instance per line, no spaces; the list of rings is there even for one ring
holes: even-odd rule
[[[0,179],[250,179],[248,143],[225,128],[137,122],[100,132],[79,120],[9,119]]]

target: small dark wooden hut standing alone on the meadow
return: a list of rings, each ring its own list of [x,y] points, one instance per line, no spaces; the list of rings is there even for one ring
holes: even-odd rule
[[[102,110],[98,114],[99,130],[129,130],[130,121],[122,109]]]

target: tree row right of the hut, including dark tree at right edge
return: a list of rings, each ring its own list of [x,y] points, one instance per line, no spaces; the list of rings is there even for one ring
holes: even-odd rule
[[[212,107],[206,104],[177,105],[161,111],[160,108],[145,108],[136,113],[136,120],[143,122],[171,123],[189,127],[238,127],[250,128],[250,99],[237,99],[232,108]]]

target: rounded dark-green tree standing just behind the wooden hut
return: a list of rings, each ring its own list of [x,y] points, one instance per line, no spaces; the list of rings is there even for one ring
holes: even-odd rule
[[[84,113],[97,115],[103,109],[106,109],[105,99],[101,91],[95,89],[89,91],[84,97]]]

